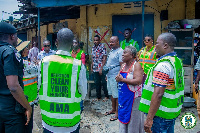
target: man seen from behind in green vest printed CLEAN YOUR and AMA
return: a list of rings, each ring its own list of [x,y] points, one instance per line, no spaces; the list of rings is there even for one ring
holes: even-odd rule
[[[44,57],[38,77],[42,125],[45,133],[78,133],[80,102],[87,93],[86,69],[71,56],[74,34],[68,28],[57,33],[58,51]]]

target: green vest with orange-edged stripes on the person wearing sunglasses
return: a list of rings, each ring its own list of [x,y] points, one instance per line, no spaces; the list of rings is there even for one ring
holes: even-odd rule
[[[148,73],[149,69],[153,67],[157,60],[155,46],[152,46],[149,51],[146,51],[146,49],[147,47],[143,47],[139,51],[139,63],[141,64],[145,74]]]

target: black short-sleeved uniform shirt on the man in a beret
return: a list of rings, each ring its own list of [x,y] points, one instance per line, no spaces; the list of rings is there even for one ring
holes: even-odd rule
[[[17,50],[7,42],[0,41],[0,95],[11,95],[6,76],[17,75],[20,86],[23,85],[23,59]]]

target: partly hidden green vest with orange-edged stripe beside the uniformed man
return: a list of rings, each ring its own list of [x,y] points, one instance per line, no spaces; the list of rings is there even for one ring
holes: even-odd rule
[[[28,96],[28,102],[33,102],[37,98],[37,77],[23,78],[24,95]]]

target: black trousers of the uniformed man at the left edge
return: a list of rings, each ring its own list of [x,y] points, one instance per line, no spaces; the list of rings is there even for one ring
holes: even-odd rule
[[[25,115],[15,112],[13,96],[0,95],[0,133],[25,133]]]

